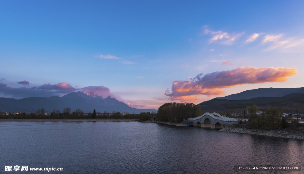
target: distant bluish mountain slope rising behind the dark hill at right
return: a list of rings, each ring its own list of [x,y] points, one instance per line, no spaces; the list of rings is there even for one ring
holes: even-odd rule
[[[256,97],[282,97],[292,93],[304,93],[304,87],[300,88],[258,88],[245,90],[238,94],[231,94],[226,97],[217,97],[217,99],[242,100]]]

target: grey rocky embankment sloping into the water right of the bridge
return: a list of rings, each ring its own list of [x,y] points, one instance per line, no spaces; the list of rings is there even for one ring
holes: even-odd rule
[[[266,136],[282,137],[282,138],[295,138],[295,139],[304,140],[303,128],[257,129],[257,128],[250,128],[248,125],[235,125],[229,128],[223,128],[219,131],[266,135]]]

